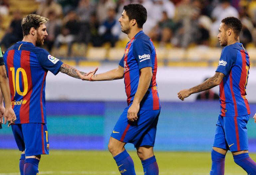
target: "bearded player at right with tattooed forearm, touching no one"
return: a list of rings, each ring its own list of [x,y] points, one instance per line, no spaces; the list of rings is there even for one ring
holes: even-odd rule
[[[248,154],[246,124],[249,120],[249,104],[246,85],[249,74],[249,55],[239,42],[241,22],[234,17],[221,21],[218,39],[223,48],[215,75],[203,83],[178,93],[181,100],[191,94],[219,85],[220,113],[211,152],[210,175],[223,175],[225,155],[233,154],[236,164],[248,175],[256,175],[256,163]]]

